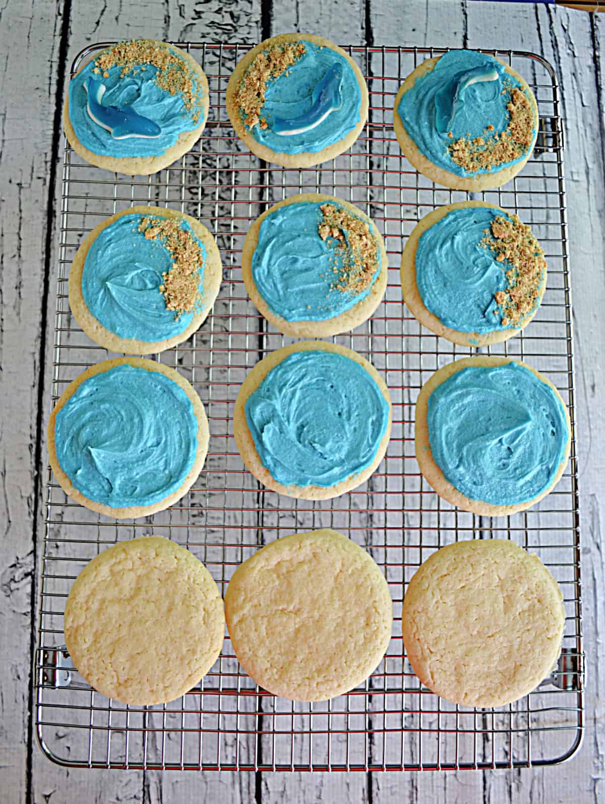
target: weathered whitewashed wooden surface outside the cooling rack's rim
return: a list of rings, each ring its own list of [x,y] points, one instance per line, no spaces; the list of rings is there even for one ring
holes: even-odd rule
[[[3,800],[17,802],[574,802],[605,796],[603,729],[603,398],[605,398],[605,39],[599,15],[531,4],[454,0],[51,2],[8,0],[0,9],[0,765]],[[41,539],[37,449],[48,414],[55,309],[56,166],[50,162],[64,72],[84,44],[104,39],[251,41],[286,31],[337,43],[504,47],[542,53],[562,85],[566,189],[578,391],[583,616],[588,691],[582,752],[565,765],[485,773],[142,773],[52,765],[32,740],[31,611]],[[27,64],[27,70],[23,69]],[[18,81],[14,76],[18,75]],[[56,85],[59,76],[59,85]],[[23,112],[27,99],[29,113]],[[47,246],[49,260],[44,259]],[[600,721],[600,728],[598,727]],[[59,735],[60,736],[60,735]],[[261,744],[262,750],[262,744]]]

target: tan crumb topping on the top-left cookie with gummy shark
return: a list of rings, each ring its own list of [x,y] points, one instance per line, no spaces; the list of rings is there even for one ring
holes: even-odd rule
[[[102,72],[107,78],[108,69],[117,65],[122,68],[123,78],[131,71],[133,75],[138,72],[136,68],[145,71],[145,64],[152,64],[157,68],[153,80],[160,89],[170,95],[182,96],[185,109],[197,123],[201,109],[198,82],[194,80],[193,69],[180,56],[171,53],[168,47],[161,47],[152,39],[133,39],[108,47],[95,59],[92,72]]]

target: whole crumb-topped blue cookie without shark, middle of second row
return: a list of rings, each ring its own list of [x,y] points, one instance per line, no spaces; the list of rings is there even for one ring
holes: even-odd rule
[[[276,203],[243,244],[251,300],[294,338],[327,338],[362,324],[382,301],[387,269],[373,221],[333,195],[304,193]]]

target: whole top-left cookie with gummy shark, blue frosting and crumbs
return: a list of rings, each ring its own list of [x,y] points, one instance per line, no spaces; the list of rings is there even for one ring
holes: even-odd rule
[[[100,51],[73,76],[67,140],[87,162],[128,176],[171,165],[206,125],[206,75],[185,51],[133,39]]]

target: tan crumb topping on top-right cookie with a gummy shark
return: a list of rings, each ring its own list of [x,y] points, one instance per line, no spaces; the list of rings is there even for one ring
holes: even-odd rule
[[[476,170],[492,170],[494,167],[514,162],[521,158],[533,140],[533,107],[529,97],[509,80],[505,81],[503,93],[509,93],[506,108],[509,125],[501,134],[491,134],[493,125],[484,129],[484,137],[460,137],[454,140],[448,151],[456,165],[474,173]],[[452,132],[448,133],[452,137]]]

